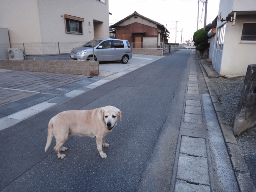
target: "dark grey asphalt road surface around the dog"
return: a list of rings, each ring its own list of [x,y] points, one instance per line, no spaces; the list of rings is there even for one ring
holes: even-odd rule
[[[0,190],[168,191],[190,53],[169,54],[2,130]],[[106,105],[123,113],[106,136],[108,158],[100,158],[94,138],[79,136],[64,144],[64,159],[54,153],[54,139],[44,152],[52,116]]]

